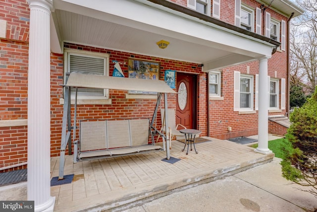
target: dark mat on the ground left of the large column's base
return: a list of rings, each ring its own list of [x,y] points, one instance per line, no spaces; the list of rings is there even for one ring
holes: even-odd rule
[[[0,173],[0,186],[26,182],[28,180],[27,169],[19,169]]]

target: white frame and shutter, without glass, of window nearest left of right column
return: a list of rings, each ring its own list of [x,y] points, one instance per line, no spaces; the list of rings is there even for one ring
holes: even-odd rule
[[[240,78],[250,78],[250,108],[240,108]],[[240,71],[234,71],[234,95],[233,95],[233,111],[254,113],[254,75],[240,74]]]

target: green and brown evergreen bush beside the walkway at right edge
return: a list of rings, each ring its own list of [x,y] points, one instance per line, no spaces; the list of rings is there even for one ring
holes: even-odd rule
[[[294,109],[290,121],[286,138],[293,148],[285,149],[283,177],[309,186],[307,192],[317,196],[317,89],[302,107]]]

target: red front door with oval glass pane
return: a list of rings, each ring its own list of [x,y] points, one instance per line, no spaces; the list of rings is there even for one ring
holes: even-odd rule
[[[177,72],[176,124],[196,129],[196,75]]]

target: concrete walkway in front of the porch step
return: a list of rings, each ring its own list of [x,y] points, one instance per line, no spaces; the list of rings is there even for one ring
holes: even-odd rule
[[[281,176],[280,158],[238,174],[143,203],[124,212],[304,212],[317,208],[314,195]],[[306,188],[307,189],[307,188]]]

